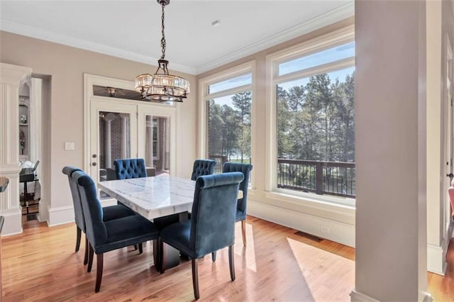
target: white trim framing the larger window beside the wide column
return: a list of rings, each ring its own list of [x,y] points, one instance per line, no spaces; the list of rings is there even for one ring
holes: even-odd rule
[[[302,69],[289,74],[278,75],[279,64],[311,55],[331,47],[350,43],[355,40],[355,26],[347,26],[339,30],[334,30],[326,35],[321,35],[304,43],[294,45],[285,50],[274,52],[266,57],[266,155],[265,155],[265,191],[272,196],[292,196],[294,201],[319,201],[322,203],[332,203],[345,206],[355,206],[355,198],[343,198],[326,195],[315,195],[303,192],[292,192],[277,188],[277,114],[276,114],[276,93],[275,86],[282,82],[289,82],[293,79],[310,77],[311,75],[331,72],[338,69],[355,66],[355,57],[341,59],[336,62],[326,63],[316,67]]]

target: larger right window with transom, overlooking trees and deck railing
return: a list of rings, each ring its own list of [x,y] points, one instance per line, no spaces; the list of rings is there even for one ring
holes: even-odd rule
[[[355,198],[354,56],[352,33],[272,57],[276,191]]]

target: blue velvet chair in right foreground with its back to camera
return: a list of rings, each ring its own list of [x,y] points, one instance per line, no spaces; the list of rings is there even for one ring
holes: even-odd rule
[[[196,179],[191,219],[162,228],[160,242],[165,242],[192,260],[194,297],[199,298],[197,260],[228,247],[231,280],[235,280],[233,243],[240,172],[205,175]],[[162,250],[160,259],[164,259]],[[161,267],[161,273],[164,267]]]

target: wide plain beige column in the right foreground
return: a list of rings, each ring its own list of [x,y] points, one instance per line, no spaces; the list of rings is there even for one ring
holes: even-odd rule
[[[352,301],[422,301],[426,1],[355,1],[356,252]]]

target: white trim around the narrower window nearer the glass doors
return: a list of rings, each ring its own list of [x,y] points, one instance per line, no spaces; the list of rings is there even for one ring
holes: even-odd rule
[[[244,74],[252,74],[252,81],[251,84],[246,84],[242,86],[238,86],[232,89],[226,89],[223,91],[215,92],[214,94],[208,94],[208,86],[210,84],[214,84],[217,82],[226,81],[231,78],[240,77]],[[255,106],[255,60],[250,62],[245,62],[242,65],[238,65],[236,67],[232,67],[230,69],[226,69],[222,72],[218,72],[217,74],[212,74],[209,77],[205,77],[199,80],[199,118],[198,118],[198,125],[197,128],[199,129],[199,145],[198,145],[198,153],[197,156],[199,158],[206,158],[208,153],[207,148],[207,140],[206,140],[206,133],[208,131],[208,120],[206,116],[206,100],[214,99],[221,96],[228,96],[231,94],[236,94],[238,92],[243,91],[250,91],[251,92],[251,112],[250,112],[250,119],[251,119],[251,129],[250,129],[250,154],[252,160],[254,161],[255,158],[255,133],[256,133],[256,107]],[[252,171],[251,173],[254,173]],[[251,177],[251,186],[253,186],[254,177]]]

